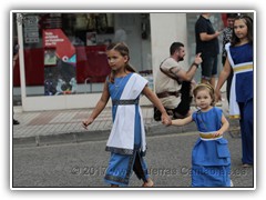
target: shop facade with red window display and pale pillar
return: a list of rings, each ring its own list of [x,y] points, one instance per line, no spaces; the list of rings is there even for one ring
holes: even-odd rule
[[[105,48],[117,41],[129,46],[131,64],[153,89],[172,42],[181,41],[186,47],[181,63],[184,68],[193,62],[198,14],[13,11],[12,46],[18,41],[20,47],[11,76],[13,104],[24,111],[95,107],[110,73]],[[215,28],[223,28],[223,13],[214,13],[212,21]],[[141,98],[141,104],[150,101]]]

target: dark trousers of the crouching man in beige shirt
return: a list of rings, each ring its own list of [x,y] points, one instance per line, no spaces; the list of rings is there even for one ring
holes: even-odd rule
[[[191,109],[191,102],[193,99],[193,97],[191,96],[191,82],[183,81],[180,92],[181,92],[180,104],[177,104],[175,109],[165,108],[165,110],[167,111],[168,114],[173,114],[174,119],[186,116]],[[154,116],[153,116],[154,120],[160,121],[161,116],[162,116],[162,113],[160,112],[160,110],[154,107]]]

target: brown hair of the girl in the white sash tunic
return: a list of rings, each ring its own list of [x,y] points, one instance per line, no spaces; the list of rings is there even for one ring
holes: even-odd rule
[[[123,42],[111,43],[106,48],[106,51],[110,51],[110,50],[115,50],[115,51],[120,52],[120,54],[122,57],[127,57],[129,59],[127,59],[127,62],[125,62],[124,70],[130,71],[130,72],[136,72],[136,70],[130,64],[130,50],[125,43],[123,43]],[[115,71],[112,70],[111,74],[109,76],[109,81],[112,83],[114,82],[114,76],[115,76]]]

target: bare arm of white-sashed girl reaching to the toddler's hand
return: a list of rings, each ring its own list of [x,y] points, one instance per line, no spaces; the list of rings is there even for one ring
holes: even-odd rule
[[[145,94],[146,98],[162,112],[162,122],[164,124],[170,124],[171,119],[157,96],[155,96],[155,93],[147,86],[145,86],[142,93]]]

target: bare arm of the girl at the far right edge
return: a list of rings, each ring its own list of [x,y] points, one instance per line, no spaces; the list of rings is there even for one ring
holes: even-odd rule
[[[227,80],[229,73],[231,73],[231,64],[228,61],[228,58],[226,58],[225,64],[223,70],[219,73],[219,78],[218,78],[218,82],[215,89],[215,97],[216,97],[216,101],[221,100],[221,88],[223,87],[224,82]]]

